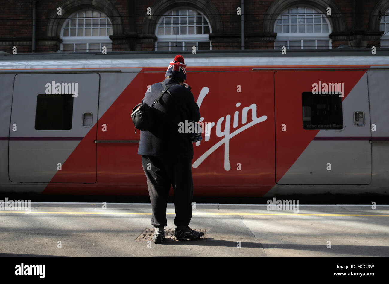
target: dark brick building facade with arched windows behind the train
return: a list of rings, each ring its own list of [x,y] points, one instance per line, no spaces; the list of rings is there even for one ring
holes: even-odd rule
[[[6,0],[0,51],[16,46],[18,53],[32,52],[34,3],[35,52],[100,51],[107,44],[112,51],[180,50],[181,44],[241,49],[243,19],[245,49],[273,49],[279,38],[279,45],[296,49],[389,43],[389,0],[244,0],[243,19],[241,0]],[[311,31],[321,33],[315,38]],[[103,44],[97,36],[86,37],[103,33]]]

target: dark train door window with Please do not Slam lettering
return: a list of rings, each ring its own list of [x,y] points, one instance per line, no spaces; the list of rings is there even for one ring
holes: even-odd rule
[[[303,92],[304,129],[342,129],[342,98],[338,94]]]

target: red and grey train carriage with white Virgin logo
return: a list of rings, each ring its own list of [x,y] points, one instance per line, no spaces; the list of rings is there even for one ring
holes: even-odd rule
[[[388,50],[180,54],[204,130],[195,196],[387,194]],[[0,190],[147,195],[130,113],[174,56],[1,56]]]

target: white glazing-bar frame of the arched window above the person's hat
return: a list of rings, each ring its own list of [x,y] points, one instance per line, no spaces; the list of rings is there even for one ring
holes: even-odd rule
[[[168,42],[169,43],[169,51],[171,50],[171,44],[172,42],[182,42],[182,50],[184,50],[184,46],[185,46],[185,42],[196,42],[196,48],[198,49],[198,43],[199,42],[209,42],[209,46],[210,46],[210,49],[209,50],[212,50],[212,42],[211,40],[209,39],[209,33],[206,33],[206,34],[190,34],[190,35],[158,35],[158,28],[160,27],[160,24],[163,24],[161,23],[164,19],[165,16],[168,16],[169,14],[172,13],[172,11],[174,10],[181,10],[181,9],[187,9],[187,10],[194,10],[196,12],[198,12],[200,15],[186,15],[187,17],[196,17],[196,16],[203,16],[204,17],[204,21],[207,21],[208,23],[208,26],[209,26],[209,33],[212,33],[212,27],[211,25],[209,24],[209,19],[207,18],[207,16],[205,16],[202,12],[200,12],[199,10],[196,10],[196,9],[193,9],[192,7],[177,7],[177,8],[174,8],[174,9],[171,9],[169,10],[168,12],[166,12],[165,14],[163,14],[163,16],[161,16],[158,20],[158,23],[156,25],[156,28],[155,28],[155,35],[157,36],[157,40],[155,42],[155,50],[158,51],[158,42]],[[196,21],[196,19],[195,19]],[[188,26],[188,21],[186,22],[186,26]],[[204,32],[204,23],[202,23],[202,31]],[[177,28],[178,30],[180,31],[180,27],[181,25],[178,24],[177,25]],[[196,30],[196,22],[194,23],[194,28]],[[164,26],[164,30],[165,30],[165,26]]]

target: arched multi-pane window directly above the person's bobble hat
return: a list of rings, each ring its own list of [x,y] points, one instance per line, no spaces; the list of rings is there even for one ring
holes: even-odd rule
[[[170,10],[159,19],[155,34],[155,50],[182,51],[210,50],[211,28],[207,17],[191,8]]]

